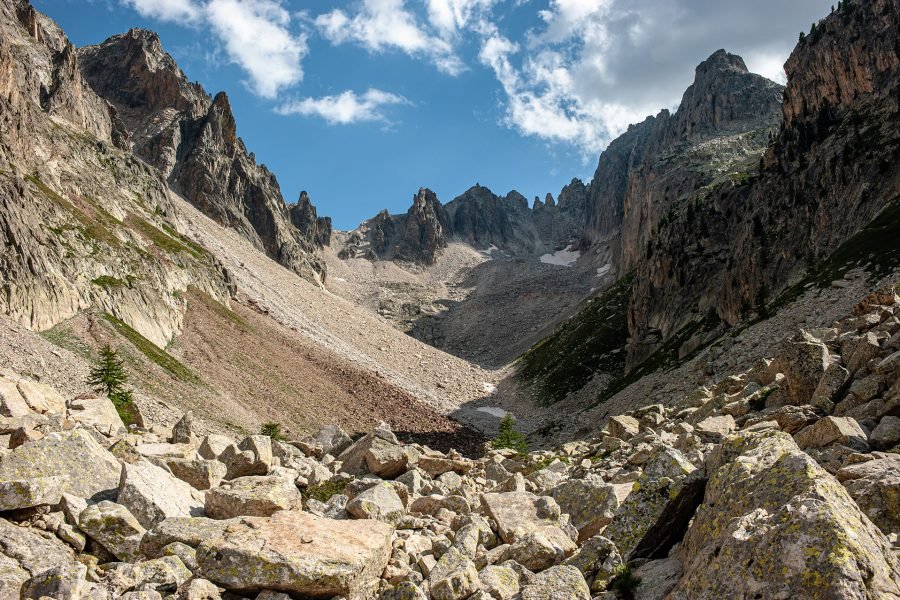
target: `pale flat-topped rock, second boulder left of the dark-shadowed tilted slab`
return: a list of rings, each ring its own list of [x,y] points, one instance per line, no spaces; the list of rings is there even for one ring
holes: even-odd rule
[[[530,492],[502,492],[481,495],[482,508],[497,523],[500,538],[507,544],[545,525],[558,525],[561,510],[549,496]]]

